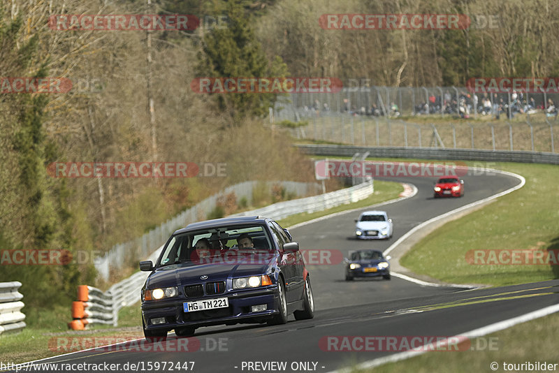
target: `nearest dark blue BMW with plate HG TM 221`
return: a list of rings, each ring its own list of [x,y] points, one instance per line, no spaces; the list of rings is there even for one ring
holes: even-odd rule
[[[299,244],[272,219],[201,221],[175,231],[142,289],[147,339],[175,330],[235,323],[312,319],[314,300]]]

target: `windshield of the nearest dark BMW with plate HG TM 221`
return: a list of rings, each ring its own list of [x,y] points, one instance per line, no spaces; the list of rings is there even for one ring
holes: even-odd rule
[[[202,258],[246,255],[270,251],[270,237],[263,226],[209,228],[174,235],[163,249],[158,265],[203,263]]]

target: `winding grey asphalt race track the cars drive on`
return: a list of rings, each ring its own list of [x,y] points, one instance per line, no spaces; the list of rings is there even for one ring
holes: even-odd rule
[[[414,184],[419,190],[412,198],[379,207],[393,219],[391,240],[355,240],[354,219],[360,211],[337,214],[293,228],[291,234],[301,249],[339,250],[344,256],[355,249],[384,250],[421,222],[509,189],[519,182],[514,177],[500,174],[465,175],[465,196],[434,199],[434,177],[391,180]],[[119,363],[117,370],[124,370],[124,364],[140,362],[135,367],[137,369],[131,369],[130,365],[126,367],[127,371],[142,371],[148,370],[148,362],[153,362],[160,364],[159,371],[170,372],[172,370],[168,367],[162,370],[162,364],[180,362],[182,369],[175,371],[184,372],[184,363],[194,362],[194,367],[188,366],[189,372],[331,372],[352,363],[402,351],[386,346],[377,346],[372,349],[374,351],[336,351],[343,346],[341,336],[451,337],[559,303],[559,280],[464,291],[453,287],[421,286],[397,277],[390,281],[344,281],[343,263],[321,263],[308,265],[308,268],[316,305],[312,320],[295,321],[290,316],[289,323],[283,326],[249,324],[201,328],[196,330],[195,337],[188,339],[187,346],[191,349],[187,352],[184,349],[162,352],[157,346],[150,348],[150,344],[145,343],[146,351],[130,346],[125,348],[127,351],[91,350],[42,360],[41,363]],[[443,303],[445,307],[440,307]],[[180,342],[170,334],[165,343],[173,344],[173,341],[174,345]],[[353,349],[359,350],[360,346],[362,344],[354,344]],[[471,348],[475,347],[472,344]],[[46,371],[50,370],[43,370]],[[152,368],[150,371],[157,370]]]

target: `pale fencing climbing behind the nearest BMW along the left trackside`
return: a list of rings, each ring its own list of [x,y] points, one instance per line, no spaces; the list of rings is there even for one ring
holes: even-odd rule
[[[250,205],[252,203],[253,191],[259,188],[261,184],[262,182],[252,181],[229,186],[224,189],[224,191],[206,198],[194,207],[177,214],[177,216],[169,219],[164,224],[145,233],[142,237],[122,244],[116,244],[104,256],[96,258],[94,264],[99,276],[104,280],[108,280],[111,271],[118,272],[121,268],[129,268],[131,265],[134,265],[134,263],[149,256],[155,248],[164,244],[170,234],[177,229],[183,228],[195,221],[204,220],[207,215],[215,209],[220,198],[224,198],[224,196],[234,193],[237,203],[242,198],[245,198],[247,204]],[[272,189],[274,186],[281,186],[286,194],[295,196],[312,196],[321,191],[321,186],[317,183],[283,181],[265,182],[263,184],[268,190]]]

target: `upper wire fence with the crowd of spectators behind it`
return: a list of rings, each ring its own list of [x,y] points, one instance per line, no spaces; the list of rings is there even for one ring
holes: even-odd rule
[[[513,117],[517,113],[547,111],[550,99],[557,106],[559,94],[545,91],[474,94],[467,87],[382,87],[371,86],[370,80],[350,79],[336,93],[289,94],[276,103],[274,111],[276,117],[293,122],[335,112],[377,117],[458,115],[475,118],[497,114]]]

